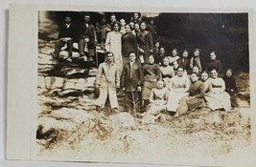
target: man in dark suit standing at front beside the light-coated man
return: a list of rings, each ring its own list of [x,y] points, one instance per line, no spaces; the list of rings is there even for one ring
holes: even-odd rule
[[[129,61],[124,65],[121,76],[121,88],[126,93],[126,108],[131,115],[136,114],[139,109],[139,94],[143,84],[142,66],[136,62],[136,53],[129,53]]]

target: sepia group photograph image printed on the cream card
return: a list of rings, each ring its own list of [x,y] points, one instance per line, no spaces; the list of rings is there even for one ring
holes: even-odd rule
[[[251,146],[248,12],[37,18],[35,159],[221,165]]]

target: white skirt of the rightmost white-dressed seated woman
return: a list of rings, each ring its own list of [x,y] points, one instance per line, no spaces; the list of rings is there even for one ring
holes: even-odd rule
[[[206,100],[206,106],[213,111],[218,109],[229,111],[231,109],[230,95],[226,92],[222,94],[208,93],[204,95],[204,98]]]

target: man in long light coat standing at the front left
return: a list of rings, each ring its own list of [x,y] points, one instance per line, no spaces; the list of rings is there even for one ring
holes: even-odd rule
[[[113,62],[113,52],[107,52],[106,62],[100,64],[95,80],[95,87],[100,91],[99,97],[95,100],[97,111],[107,107],[107,114],[116,113],[117,92],[120,88],[119,72],[118,65]]]

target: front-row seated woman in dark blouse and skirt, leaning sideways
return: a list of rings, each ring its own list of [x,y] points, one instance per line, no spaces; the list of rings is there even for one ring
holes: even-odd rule
[[[190,75],[192,85],[189,88],[189,95],[183,96],[178,103],[175,117],[194,112],[196,109],[205,106],[203,99],[204,84],[199,80],[199,73]]]

